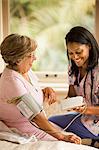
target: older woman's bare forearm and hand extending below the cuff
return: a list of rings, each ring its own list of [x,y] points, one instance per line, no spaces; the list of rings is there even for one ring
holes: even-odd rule
[[[39,113],[33,120],[40,129],[47,132],[51,136],[55,137],[58,140],[72,142],[76,144],[81,143],[81,139],[76,135],[65,135],[59,129],[56,129],[44,116],[43,112]]]

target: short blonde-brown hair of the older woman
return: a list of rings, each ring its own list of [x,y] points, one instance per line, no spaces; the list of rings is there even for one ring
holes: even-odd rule
[[[2,58],[5,63],[12,67],[16,66],[19,60],[36,48],[37,43],[35,40],[19,34],[8,35],[0,46]]]

